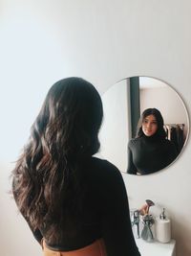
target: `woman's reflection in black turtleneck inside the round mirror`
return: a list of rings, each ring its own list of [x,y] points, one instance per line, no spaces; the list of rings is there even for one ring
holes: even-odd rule
[[[138,133],[128,144],[128,168],[131,175],[158,172],[177,157],[175,145],[166,139],[163,118],[157,108],[147,108],[138,121]]]

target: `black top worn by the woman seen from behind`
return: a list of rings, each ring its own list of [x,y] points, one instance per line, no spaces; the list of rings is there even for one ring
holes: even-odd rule
[[[83,215],[79,216],[80,228],[68,225],[60,228],[62,241],[51,244],[46,230],[32,232],[40,243],[44,237],[53,250],[67,251],[92,244],[103,238],[108,256],[140,256],[132,233],[129,204],[120,172],[108,161],[91,157],[83,164],[84,198]],[[28,221],[29,223],[29,221]],[[29,223],[30,225],[30,223]],[[48,228],[47,228],[48,230]]]

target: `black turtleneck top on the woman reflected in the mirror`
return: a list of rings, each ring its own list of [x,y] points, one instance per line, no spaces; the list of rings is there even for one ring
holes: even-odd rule
[[[177,150],[171,141],[142,135],[128,143],[127,173],[152,174],[168,166],[176,157]]]

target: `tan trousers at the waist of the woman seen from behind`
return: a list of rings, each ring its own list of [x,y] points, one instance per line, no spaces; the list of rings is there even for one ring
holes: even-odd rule
[[[44,256],[107,256],[105,244],[102,239],[96,240],[93,244],[73,251],[55,251],[49,249],[45,241],[42,242]]]

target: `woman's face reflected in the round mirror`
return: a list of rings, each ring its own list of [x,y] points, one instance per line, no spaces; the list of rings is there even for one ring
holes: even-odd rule
[[[158,130],[158,122],[154,115],[148,115],[143,119],[142,131],[144,135],[150,137]]]

